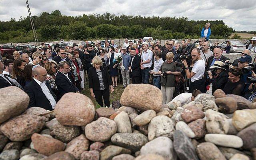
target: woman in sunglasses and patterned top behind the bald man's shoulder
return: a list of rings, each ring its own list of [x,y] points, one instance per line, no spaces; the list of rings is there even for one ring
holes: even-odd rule
[[[47,71],[47,81],[52,88],[52,92],[57,96],[57,101],[60,99],[60,92],[56,86],[55,78],[58,71],[58,64],[55,61],[46,62],[44,68]]]

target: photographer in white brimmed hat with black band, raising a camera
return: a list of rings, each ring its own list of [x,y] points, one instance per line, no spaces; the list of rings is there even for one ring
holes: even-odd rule
[[[215,61],[212,66],[210,66],[207,71],[209,79],[208,85],[206,86],[206,93],[213,94],[215,90],[224,88],[227,80],[228,74],[225,72],[225,68],[223,68],[224,63],[221,61]]]

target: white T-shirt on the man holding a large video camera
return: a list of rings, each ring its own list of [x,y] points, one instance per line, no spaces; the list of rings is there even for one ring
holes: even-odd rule
[[[191,77],[191,82],[195,82],[196,80],[202,79],[204,75],[205,61],[204,59],[197,60],[192,68],[192,72],[195,73],[193,77]]]

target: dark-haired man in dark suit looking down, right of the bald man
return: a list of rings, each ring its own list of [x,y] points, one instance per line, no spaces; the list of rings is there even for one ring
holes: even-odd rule
[[[56,75],[56,86],[60,91],[60,96],[63,96],[68,92],[77,92],[80,93],[78,88],[72,84],[71,80],[68,77],[68,72],[70,72],[71,68],[69,67],[68,62],[60,62],[58,66],[58,73]]]

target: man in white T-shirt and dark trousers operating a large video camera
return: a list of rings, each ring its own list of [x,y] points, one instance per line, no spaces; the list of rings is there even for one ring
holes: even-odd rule
[[[190,84],[189,84],[189,92],[192,93],[193,90],[200,90],[202,93],[204,93],[205,90],[205,83],[203,80],[204,76],[204,68],[205,68],[205,62],[204,59],[202,59],[200,49],[194,48],[191,52],[192,56],[192,70],[189,71],[188,64],[186,60],[181,60],[182,63],[185,66],[186,70],[186,76],[189,79],[190,78]]]

